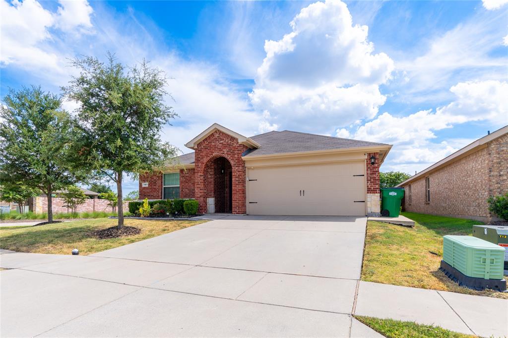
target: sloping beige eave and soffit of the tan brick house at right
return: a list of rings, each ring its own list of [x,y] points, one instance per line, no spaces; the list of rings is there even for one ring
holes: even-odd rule
[[[506,133],[508,133],[508,125],[502,127],[501,129],[497,129],[494,132],[491,132],[487,136],[484,136],[483,138],[474,141],[473,143],[465,146],[464,148],[462,148],[460,150],[457,150],[453,154],[443,158],[439,162],[436,162],[436,163],[432,164],[431,166],[429,166],[428,168],[424,169],[420,173],[415,174],[414,176],[411,176],[410,178],[408,178],[404,182],[398,184],[397,187],[401,187],[403,185],[406,185],[407,183],[409,183],[411,181],[414,181],[415,179],[417,179],[419,177],[422,177],[425,174],[429,174],[429,173],[431,173],[431,172],[433,172],[433,171],[435,171],[435,170],[437,170],[437,169],[439,169],[439,168],[441,168],[443,166],[447,166],[448,164],[453,163],[453,162],[455,162],[455,161],[457,161],[457,160],[459,160],[459,159],[461,159],[463,157],[466,157],[469,154],[472,154],[472,153],[474,153],[474,152],[476,152],[476,151],[478,151],[480,149],[483,149],[483,148],[487,147],[487,143],[489,143],[490,141],[495,140],[495,139],[503,136]]]

